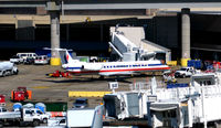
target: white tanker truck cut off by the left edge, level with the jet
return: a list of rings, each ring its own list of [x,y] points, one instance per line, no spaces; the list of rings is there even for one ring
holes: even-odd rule
[[[17,75],[19,70],[11,62],[0,62],[0,76],[4,77],[7,75]]]

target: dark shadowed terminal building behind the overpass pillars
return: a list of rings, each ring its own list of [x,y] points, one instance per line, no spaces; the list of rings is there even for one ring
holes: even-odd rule
[[[190,57],[220,61],[221,9],[190,9]],[[182,56],[181,9],[73,10],[60,13],[60,45],[78,55],[108,55],[112,26],[144,28],[144,39]],[[0,60],[51,46],[44,8],[0,9]],[[10,51],[10,52],[9,52]]]

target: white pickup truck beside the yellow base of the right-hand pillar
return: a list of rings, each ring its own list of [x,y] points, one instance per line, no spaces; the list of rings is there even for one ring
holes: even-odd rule
[[[175,77],[190,77],[193,73],[193,67],[182,67],[175,72]]]

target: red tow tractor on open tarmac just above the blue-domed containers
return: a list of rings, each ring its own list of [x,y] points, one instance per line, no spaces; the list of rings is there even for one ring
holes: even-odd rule
[[[27,87],[18,87],[17,90],[11,90],[11,100],[24,102],[31,99],[31,90],[27,90]]]

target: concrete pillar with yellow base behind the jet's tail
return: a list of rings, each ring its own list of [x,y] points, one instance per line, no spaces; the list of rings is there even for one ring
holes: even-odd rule
[[[51,65],[61,65],[60,49],[60,13],[59,11],[51,11]]]

